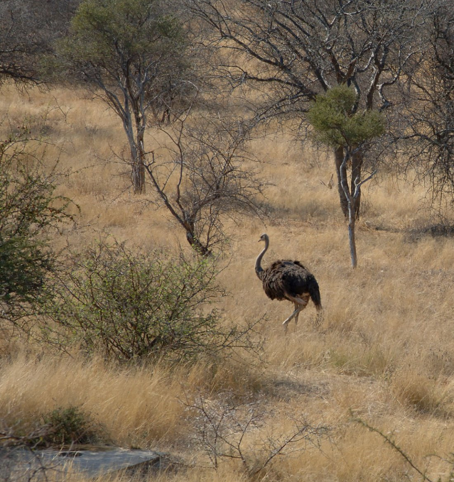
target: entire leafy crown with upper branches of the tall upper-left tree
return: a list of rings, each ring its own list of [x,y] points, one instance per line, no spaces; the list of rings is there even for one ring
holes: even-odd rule
[[[162,108],[188,88],[175,80],[189,67],[183,26],[166,10],[158,0],[82,1],[69,35],[56,45],[57,59],[45,60],[47,74],[95,84],[120,116],[129,109],[123,95],[128,102],[137,96]]]

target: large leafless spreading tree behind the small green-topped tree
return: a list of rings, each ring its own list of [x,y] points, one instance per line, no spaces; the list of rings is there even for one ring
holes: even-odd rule
[[[284,116],[306,126],[317,94],[336,85],[355,89],[352,113],[393,106],[401,72],[420,50],[431,0],[188,0],[222,48],[232,51],[221,73],[233,87],[259,89],[259,119]],[[265,88],[264,85],[266,85]],[[256,96],[257,97],[257,96]],[[303,128],[301,133],[306,132]],[[340,206],[348,217],[341,166],[333,148]],[[361,176],[364,150],[351,155],[350,186]],[[360,194],[355,199],[360,213]]]

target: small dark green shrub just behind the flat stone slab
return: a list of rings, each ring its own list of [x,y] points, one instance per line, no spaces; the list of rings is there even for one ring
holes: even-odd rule
[[[39,445],[63,447],[71,444],[97,442],[94,424],[79,407],[56,408],[43,416],[48,429]]]

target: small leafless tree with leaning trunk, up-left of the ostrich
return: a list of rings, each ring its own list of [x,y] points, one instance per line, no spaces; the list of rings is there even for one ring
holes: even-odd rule
[[[247,211],[261,215],[258,197],[264,185],[246,148],[249,128],[233,116],[194,119],[190,111],[158,131],[166,141],[145,165],[156,200],[205,256],[225,241],[226,217]]]

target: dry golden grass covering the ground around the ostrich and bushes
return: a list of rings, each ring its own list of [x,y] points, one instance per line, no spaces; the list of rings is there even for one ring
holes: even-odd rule
[[[4,126],[27,117],[47,136],[53,144],[49,162],[63,149],[60,169],[67,175],[60,192],[80,206],[80,218],[77,229],[68,227],[56,243],[86,243],[107,230],[146,249],[186,248],[168,214],[144,202],[151,195],[130,195],[127,168],[113,154],[124,148],[124,135],[104,106],[77,90],[19,95],[11,89],[3,92],[0,109],[8,119]],[[266,191],[271,215],[266,226],[252,217],[228,226],[232,243],[221,281],[230,296],[222,308],[239,323],[265,317],[261,360],[200,362],[173,371],[124,368],[77,356],[53,358],[45,347],[25,355],[4,341],[4,420],[24,424],[55,407],[78,406],[112,442],[168,451],[195,465],[163,474],[162,481],[245,480],[234,459],[221,461],[217,471],[201,468],[208,461],[195,437],[200,419],[184,403],[201,395],[218,412],[232,400],[239,419],[247,410],[256,414],[243,446],[251,468],[266,456],[266,441],[279,441],[296,422],[326,427],[313,444],[289,446],[291,453],[276,457],[259,474],[264,480],[421,479],[354,417],[394,439],[432,480],[448,480],[445,459],[454,447],[453,239],[421,234],[433,222],[421,187],[379,175],[364,188],[354,272],[337,192],[326,187],[330,158],[283,135],[253,148],[263,160],[261,175],[272,183]],[[309,305],[296,332],[292,322],[284,336],[281,322],[292,306],[268,300],[254,274],[263,231],[271,239],[264,264],[296,258],[318,279],[325,309],[319,329]]]

